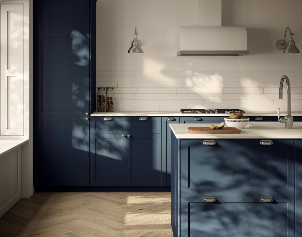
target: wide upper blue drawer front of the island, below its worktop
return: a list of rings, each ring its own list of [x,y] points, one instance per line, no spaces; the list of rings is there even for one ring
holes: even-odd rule
[[[181,194],[294,195],[294,140],[260,142],[182,140]]]

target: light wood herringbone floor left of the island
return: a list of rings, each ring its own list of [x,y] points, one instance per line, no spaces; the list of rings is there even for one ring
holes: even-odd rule
[[[0,236],[173,236],[170,192],[37,192],[0,219]]]

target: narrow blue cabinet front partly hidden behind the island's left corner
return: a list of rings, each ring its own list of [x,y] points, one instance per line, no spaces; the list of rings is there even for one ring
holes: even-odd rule
[[[169,124],[179,124],[179,117],[162,118],[162,186],[171,186],[171,128]]]

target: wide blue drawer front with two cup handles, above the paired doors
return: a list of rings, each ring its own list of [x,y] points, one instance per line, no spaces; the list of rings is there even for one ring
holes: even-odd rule
[[[91,120],[91,133],[161,133],[161,117],[91,117]]]

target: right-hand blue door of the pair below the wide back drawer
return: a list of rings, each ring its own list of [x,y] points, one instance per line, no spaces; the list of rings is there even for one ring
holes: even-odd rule
[[[161,134],[126,139],[127,186],[161,186]]]

